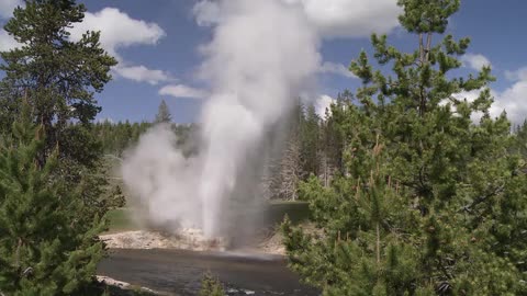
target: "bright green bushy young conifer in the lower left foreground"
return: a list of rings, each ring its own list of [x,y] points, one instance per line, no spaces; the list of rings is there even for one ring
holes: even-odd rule
[[[27,109],[27,107],[25,107]],[[0,292],[4,295],[83,295],[103,257],[99,216],[57,174],[55,150],[41,167],[43,127],[24,111],[0,143]]]

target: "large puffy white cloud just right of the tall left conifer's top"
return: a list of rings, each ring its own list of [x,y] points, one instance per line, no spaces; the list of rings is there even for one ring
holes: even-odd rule
[[[79,41],[86,31],[101,31],[101,45],[117,58],[119,48],[155,45],[166,35],[156,23],[132,19],[115,8],[104,8],[96,13],[86,12],[85,20],[69,30],[71,39]]]

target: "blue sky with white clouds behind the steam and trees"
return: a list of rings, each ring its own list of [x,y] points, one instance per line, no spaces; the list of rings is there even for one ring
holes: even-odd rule
[[[358,80],[344,70],[362,48],[370,49],[368,36],[372,31],[389,32],[389,42],[401,48],[414,48],[417,42],[395,25],[395,0],[282,1],[303,4],[305,13],[319,25],[321,53],[326,62],[323,67],[326,70],[317,76],[319,95],[335,96],[344,89],[357,87]],[[16,2],[0,0],[0,22],[9,18],[8,10]],[[212,38],[212,27],[197,22],[193,8],[198,2],[83,1],[89,13],[87,23],[79,30],[101,30],[106,50],[121,61],[114,69],[114,80],[97,95],[103,107],[99,118],[149,121],[165,99],[176,122],[197,119],[202,96],[206,96],[203,81],[197,79],[202,61],[198,48]],[[332,14],[330,5],[336,5],[338,15]],[[472,39],[468,50],[471,55],[461,72],[474,71],[472,68],[490,62],[497,77],[492,84],[496,99],[494,111],[507,109],[516,122],[527,114],[527,104],[523,103],[527,98],[526,13],[524,0],[464,0],[449,27],[455,37]],[[12,46],[8,41],[0,33],[0,49]],[[463,95],[474,96],[473,93]]]

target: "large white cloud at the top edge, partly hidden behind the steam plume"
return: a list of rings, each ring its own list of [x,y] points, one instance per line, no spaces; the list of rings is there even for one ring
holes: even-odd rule
[[[299,5],[323,37],[365,37],[389,33],[399,25],[395,0],[281,0]],[[194,7],[200,25],[221,22],[218,1],[202,0]]]

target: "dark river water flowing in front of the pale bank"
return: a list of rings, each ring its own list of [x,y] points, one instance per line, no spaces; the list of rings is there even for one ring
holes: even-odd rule
[[[172,295],[197,295],[203,273],[227,287],[227,295],[318,296],[299,283],[281,257],[180,250],[112,250],[98,274]]]

